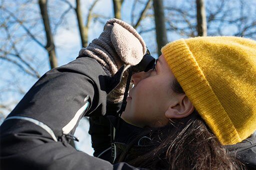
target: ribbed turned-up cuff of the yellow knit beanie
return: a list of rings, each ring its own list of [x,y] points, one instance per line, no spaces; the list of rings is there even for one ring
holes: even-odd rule
[[[185,94],[222,145],[241,142],[185,40],[168,43],[161,52]]]

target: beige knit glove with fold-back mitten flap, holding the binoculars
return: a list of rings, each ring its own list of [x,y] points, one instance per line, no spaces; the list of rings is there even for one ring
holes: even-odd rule
[[[79,56],[94,58],[108,76],[113,76],[122,65],[124,70],[137,65],[145,52],[145,42],[136,30],[126,22],[114,18],[106,22],[98,38],[79,51]],[[108,94],[108,101],[122,101],[126,80],[127,71],[123,73],[119,85]]]

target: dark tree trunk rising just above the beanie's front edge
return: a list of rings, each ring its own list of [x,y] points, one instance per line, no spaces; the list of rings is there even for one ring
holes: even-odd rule
[[[157,53],[161,55],[161,47],[164,46],[167,41],[163,2],[162,0],[153,0],[154,7],[154,23],[156,32],[156,42],[157,42]]]

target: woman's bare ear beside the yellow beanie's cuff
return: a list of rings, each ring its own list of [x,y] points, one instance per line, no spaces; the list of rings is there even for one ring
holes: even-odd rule
[[[168,119],[181,119],[190,115],[194,111],[191,101],[185,94],[177,96],[177,100],[171,103],[165,112]]]

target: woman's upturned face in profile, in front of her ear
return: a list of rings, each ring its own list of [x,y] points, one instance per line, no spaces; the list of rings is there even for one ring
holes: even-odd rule
[[[131,77],[133,88],[129,90],[127,105],[121,118],[137,127],[159,127],[168,122],[165,112],[175,101],[171,90],[174,80],[163,55],[159,56],[155,69],[135,73]]]

